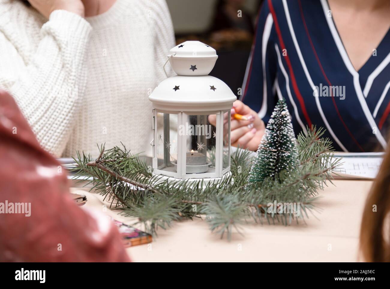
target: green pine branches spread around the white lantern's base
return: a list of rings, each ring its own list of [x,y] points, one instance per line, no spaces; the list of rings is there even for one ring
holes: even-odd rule
[[[124,146],[105,150],[102,145],[95,160],[77,153],[75,176],[92,176],[93,189],[121,208],[122,214],[137,218],[149,233],[167,229],[176,220],[206,214],[211,231],[221,236],[226,233],[230,239],[234,230],[241,233],[240,227],[248,220],[288,225],[293,220],[304,221],[309,212],[317,210],[314,196],[327,180],[332,182],[331,173],[340,165],[340,160],[333,158],[332,143],[322,135],[323,130],[315,127],[301,133],[297,141],[300,166],[250,185],[246,181],[252,159],[250,152],[242,149],[230,156],[232,176],[214,183],[162,181],[160,176],[152,176],[141,155],[132,155]],[[269,213],[274,201],[299,203],[300,215]]]

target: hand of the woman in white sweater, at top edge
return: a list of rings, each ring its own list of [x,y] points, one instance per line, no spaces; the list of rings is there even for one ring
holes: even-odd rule
[[[84,5],[81,0],[28,0],[31,6],[49,19],[54,10],[66,10],[84,17]]]

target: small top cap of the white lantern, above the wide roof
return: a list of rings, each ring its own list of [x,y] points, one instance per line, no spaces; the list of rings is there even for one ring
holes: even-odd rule
[[[169,51],[169,62],[178,75],[207,75],[218,55],[214,48],[200,41],[185,41]]]

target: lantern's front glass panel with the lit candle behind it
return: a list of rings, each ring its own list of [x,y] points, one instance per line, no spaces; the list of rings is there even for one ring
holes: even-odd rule
[[[209,117],[216,120],[217,115],[188,115],[184,121],[186,174],[215,173],[218,129],[209,123]]]

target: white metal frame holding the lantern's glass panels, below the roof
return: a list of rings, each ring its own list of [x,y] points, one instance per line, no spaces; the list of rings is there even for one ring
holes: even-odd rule
[[[229,161],[227,167],[223,167],[223,114],[228,112],[229,122],[230,122],[230,110],[219,110],[219,111],[168,111],[163,109],[152,109],[152,129],[153,129],[153,140],[152,145],[152,167],[153,173],[158,175],[164,175],[177,179],[192,179],[192,178],[222,178],[226,173],[230,172],[230,124],[228,131],[228,149],[229,149]],[[158,167],[158,152],[155,140],[158,139],[158,130],[157,128],[157,115],[158,113],[163,114],[174,114],[177,115],[177,171],[171,172],[167,170],[162,170]],[[215,142],[215,172],[214,173],[186,173],[186,135],[179,134],[179,127],[181,125],[185,126],[186,120],[190,115],[216,115],[216,142]],[[163,123],[164,132],[170,131],[169,122]],[[164,134],[164,137],[166,133]],[[164,158],[166,152],[164,151]],[[206,153],[207,157],[207,153]],[[166,162],[167,160],[164,160]],[[170,161],[170,160],[168,160]]]

